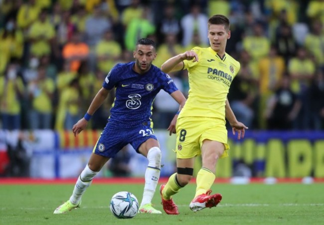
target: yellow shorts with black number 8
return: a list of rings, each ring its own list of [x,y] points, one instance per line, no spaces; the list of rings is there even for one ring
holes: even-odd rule
[[[223,143],[228,156],[227,130],[224,120],[211,117],[180,117],[176,122],[176,158],[189,159],[201,155],[202,142],[206,139]]]

